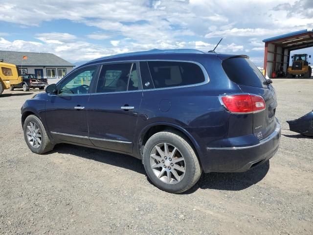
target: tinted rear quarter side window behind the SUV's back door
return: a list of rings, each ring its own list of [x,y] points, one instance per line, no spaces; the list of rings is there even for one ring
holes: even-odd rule
[[[148,61],[156,88],[185,86],[204,82],[201,68],[188,62]]]

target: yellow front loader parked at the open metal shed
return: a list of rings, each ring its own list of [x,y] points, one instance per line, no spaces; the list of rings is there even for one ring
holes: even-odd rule
[[[296,75],[303,76],[304,78],[310,78],[312,73],[312,68],[309,66],[308,54],[296,54],[291,56],[292,66],[288,67],[287,77],[295,77]],[[309,55],[311,58],[311,55]]]

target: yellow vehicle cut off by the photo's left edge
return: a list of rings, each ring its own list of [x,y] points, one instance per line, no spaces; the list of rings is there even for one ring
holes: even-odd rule
[[[21,84],[22,76],[19,75],[19,69],[16,65],[3,63],[0,60],[0,95],[6,89],[14,88],[14,85]]]

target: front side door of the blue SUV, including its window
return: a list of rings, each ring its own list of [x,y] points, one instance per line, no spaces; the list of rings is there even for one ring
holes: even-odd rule
[[[92,145],[86,106],[96,74],[96,66],[76,71],[57,85],[57,94],[48,96],[45,118],[54,139]]]

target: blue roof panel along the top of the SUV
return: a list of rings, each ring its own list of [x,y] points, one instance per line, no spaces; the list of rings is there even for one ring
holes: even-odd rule
[[[130,53],[105,56],[105,57],[101,57],[101,58],[92,60],[90,62],[98,61],[98,60],[105,60],[105,59],[112,59],[112,58],[119,58],[119,57],[126,57],[126,56],[135,56],[135,55],[178,54],[178,53],[182,53],[182,54],[204,54],[203,51],[196,50],[196,49],[165,49],[165,50],[152,49],[152,50],[145,50],[145,51],[138,51],[138,52],[130,52]]]

